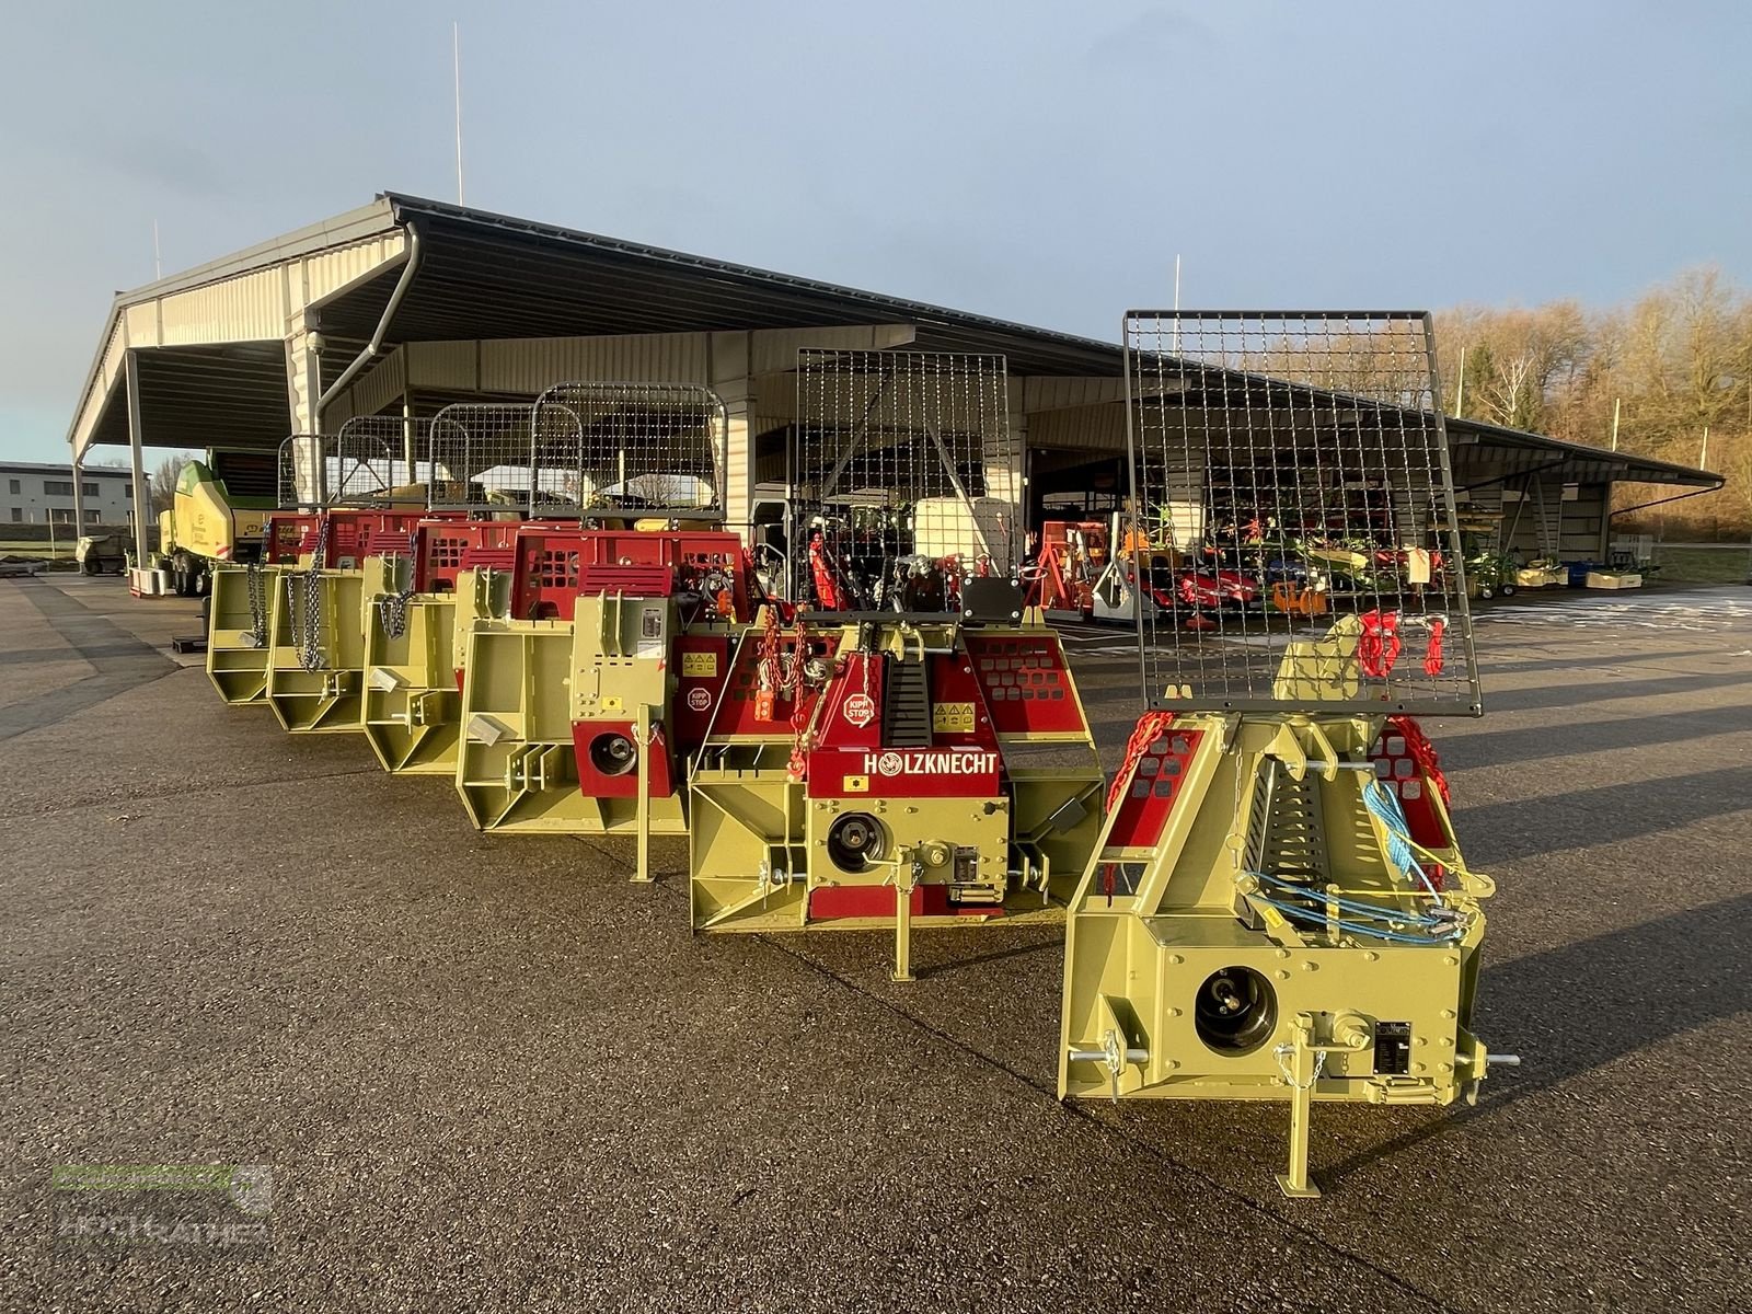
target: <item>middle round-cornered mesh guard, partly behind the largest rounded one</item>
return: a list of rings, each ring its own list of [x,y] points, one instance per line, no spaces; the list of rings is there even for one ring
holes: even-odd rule
[[[578,422],[566,412],[538,419],[527,401],[457,401],[433,417],[426,505],[434,512],[576,510],[569,454]],[[564,456],[562,456],[564,454]]]

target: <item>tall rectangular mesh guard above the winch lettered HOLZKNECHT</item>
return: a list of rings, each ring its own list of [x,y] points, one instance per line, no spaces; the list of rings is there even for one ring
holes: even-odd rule
[[[799,352],[792,433],[818,608],[962,611],[971,580],[1014,580],[1021,454],[1002,356]]]

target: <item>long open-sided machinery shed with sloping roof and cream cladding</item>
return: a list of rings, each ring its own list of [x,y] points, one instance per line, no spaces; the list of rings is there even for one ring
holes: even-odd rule
[[[68,442],[75,468],[131,447],[144,506],[144,447],[259,452],[259,482],[233,492],[263,494],[289,433],[354,415],[429,417],[571,378],[685,380],[729,408],[725,506],[743,526],[783,492],[799,349],[888,347],[1007,359],[1011,442],[988,454],[990,491],[1027,485],[1037,513],[1048,492],[1116,487],[1118,343],[394,193],[119,294]],[[1500,512],[1503,547],[1528,555],[1601,555],[1617,480],[1722,484],[1472,420],[1449,436],[1463,510]],[[145,559],[142,517],[135,536]]]

